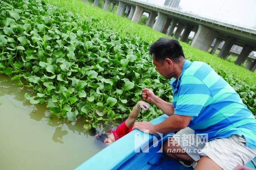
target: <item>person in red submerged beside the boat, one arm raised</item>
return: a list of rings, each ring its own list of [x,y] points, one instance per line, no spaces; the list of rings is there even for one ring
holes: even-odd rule
[[[131,111],[130,115],[128,116],[128,119],[124,121],[122,124],[120,124],[116,130],[111,130],[109,135],[97,134],[95,135],[96,139],[100,140],[101,142],[104,142],[107,145],[110,145],[117,141],[118,139],[120,139],[121,137],[128,134],[129,132],[132,131],[133,124],[136,121],[141,109],[148,110],[149,104],[143,101],[139,101]]]

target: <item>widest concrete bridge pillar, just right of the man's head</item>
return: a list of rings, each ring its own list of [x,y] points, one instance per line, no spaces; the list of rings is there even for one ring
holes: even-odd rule
[[[197,34],[194,36],[191,46],[207,52],[217,34],[216,31],[213,31],[206,26],[199,25]]]

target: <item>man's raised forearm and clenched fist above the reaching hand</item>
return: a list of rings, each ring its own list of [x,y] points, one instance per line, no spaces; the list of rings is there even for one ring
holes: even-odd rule
[[[145,88],[142,91],[143,91],[142,93],[143,99],[154,103],[155,106],[157,106],[160,110],[162,110],[168,116],[171,116],[174,114],[173,103],[165,102],[163,99],[156,96],[150,89]]]

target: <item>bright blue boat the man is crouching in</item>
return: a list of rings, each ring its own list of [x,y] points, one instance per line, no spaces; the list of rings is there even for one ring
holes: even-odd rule
[[[168,118],[167,115],[162,115],[150,122],[157,124],[166,118]],[[172,135],[172,133],[148,135],[139,130],[133,130],[82,163],[75,170],[193,170],[192,167],[184,167],[176,160],[163,161],[163,158],[166,158],[162,153],[163,141]],[[162,161],[163,163],[161,163]],[[246,166],[256,169],[252,161],[248,162]]]

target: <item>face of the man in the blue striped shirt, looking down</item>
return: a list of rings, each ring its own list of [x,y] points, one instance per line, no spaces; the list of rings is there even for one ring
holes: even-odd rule
[[[170,63],[164,61],[164,63],[155,61],[155,54],[153,54],[153,63],[155,65],[155,69],[158,73],[165,77],[165,79],[171,79],[173,77],[171,72]]]

